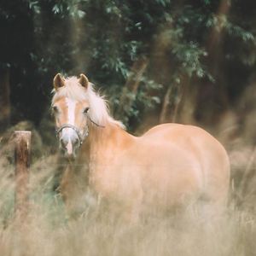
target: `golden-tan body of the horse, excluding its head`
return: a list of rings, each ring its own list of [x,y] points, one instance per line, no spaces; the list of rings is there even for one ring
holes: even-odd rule
[[[78,173],[86,172],[90,188],[131,213],[139,214],[152,206],[186,207],[195,201],[214,207],[225,205],[229,159],[223,146],[207,131],[191,125],[164,124],[134,137],[113,119],[97,121],[104,128],[96,122],[86,123],[89,136],[75,160],[82,166],[80,172],[69,165],[62,178],[61,191],[67,201],[75,200],[72,195],[77,195],[77,181],[81,182]]]

